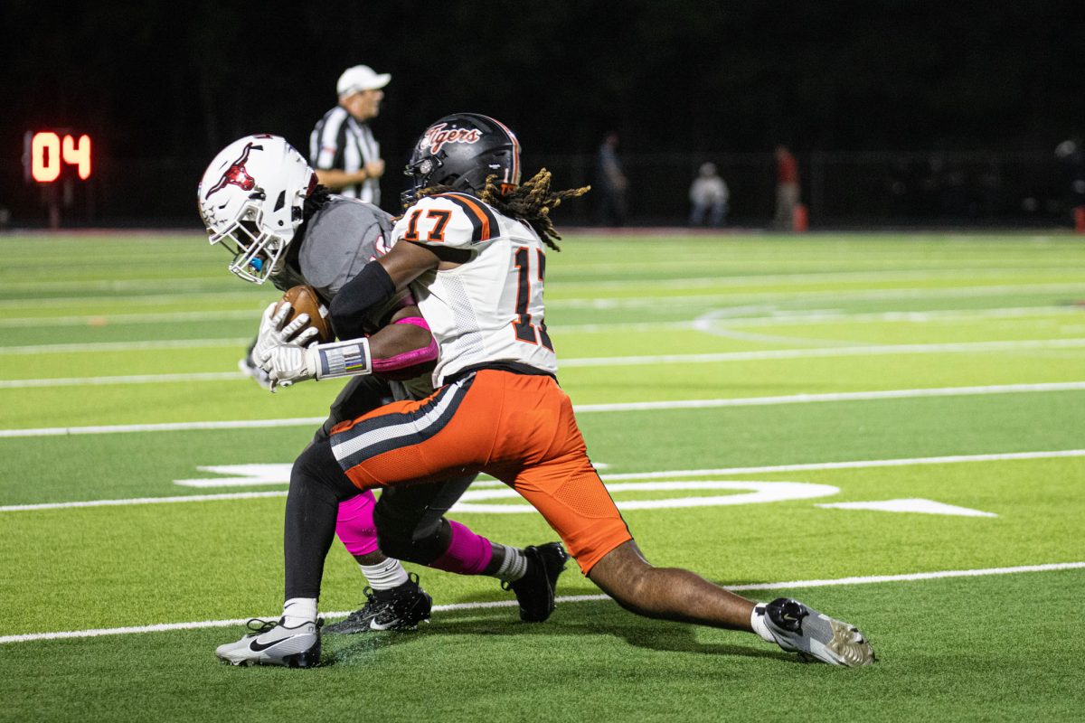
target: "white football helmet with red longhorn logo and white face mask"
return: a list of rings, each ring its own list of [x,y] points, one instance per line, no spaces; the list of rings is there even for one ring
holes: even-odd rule
[[[279,270],[316,188],[317,175],[284,139],[246,135],[219,151],[204,171],[200,217],[210,243],[233,254],[230,271],[263,284]]]

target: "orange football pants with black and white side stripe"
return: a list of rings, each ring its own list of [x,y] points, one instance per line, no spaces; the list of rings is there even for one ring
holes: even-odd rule
[[[339,424],[331,441],[361,490],[493,475],[542,514],[585,574],[633,539],[588,460],[569,396],[549,376],[483,370]]]

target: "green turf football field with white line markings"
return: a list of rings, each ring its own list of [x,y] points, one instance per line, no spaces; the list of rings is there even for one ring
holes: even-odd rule
[[[561,383],[649,559],[854,622],[876,666],[636,618],[574,566],[544,624],[412,567],[420,631],[220,664],[278,615],[289,465],[337,385],[237,371],[277,294],[197,234],[0,236],[0,721],[1082,719],[1085,238],[563,249]],[[457,518],[553,539],[501,491]],[[336,542],[322,609],[362,586]]]

